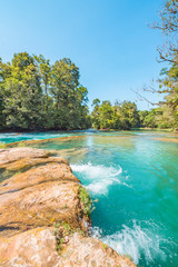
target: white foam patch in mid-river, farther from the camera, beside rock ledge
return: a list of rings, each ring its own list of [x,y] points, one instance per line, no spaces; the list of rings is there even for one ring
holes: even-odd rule
[[[121,181],[122,168],[120,166],[115,168],[88,162],[86,165],[71,165],[71,168],[75,172],[81,174],[85,180],[89,181],[86,188],[93,195],[107,195],[108,187],[113,184],[127,186],[126,182]]]

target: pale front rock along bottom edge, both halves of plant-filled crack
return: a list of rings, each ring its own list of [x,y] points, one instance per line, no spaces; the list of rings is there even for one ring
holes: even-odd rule
[[[11,238],[0,238],[3,267],[136,267],[131,260],[92,237],[76,233],[57,253],[52,228],[37,228]]]

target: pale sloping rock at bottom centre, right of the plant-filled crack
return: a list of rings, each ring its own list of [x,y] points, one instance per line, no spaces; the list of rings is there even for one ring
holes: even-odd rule
[[[59,266],[75,267],[136,267],[130,259],[118,255],[109,246],[93,237],[83,237],[76,233],[60,251]]]

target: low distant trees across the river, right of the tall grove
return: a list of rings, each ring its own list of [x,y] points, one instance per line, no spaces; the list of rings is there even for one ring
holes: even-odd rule
[[[178,127],[178,121],[168,105],[161,105],[150,111],[139,111],[135,102],[116,101],[111,105],[110,101],[100,102],[99,99],[95,99],[92,106],[91,121],[97,129],[130,130],[140,127],[174,129]]]

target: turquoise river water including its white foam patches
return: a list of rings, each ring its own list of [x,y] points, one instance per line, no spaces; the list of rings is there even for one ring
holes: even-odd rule
[[[95,202],[92,235],[139,266],[178,266],[178,144],[165,132],[1,134],[6,142],[81,135],[57,149]],[[167,138],[170,141],[155,138]]]

